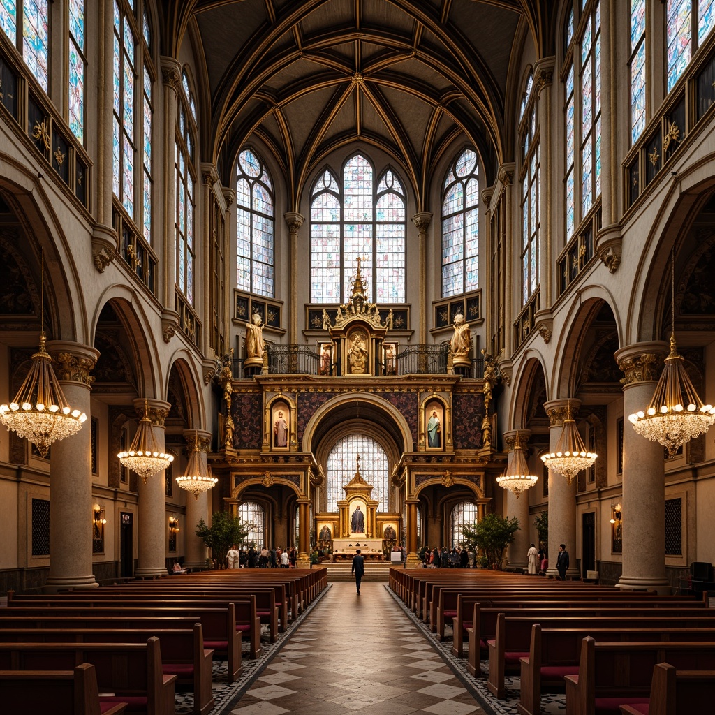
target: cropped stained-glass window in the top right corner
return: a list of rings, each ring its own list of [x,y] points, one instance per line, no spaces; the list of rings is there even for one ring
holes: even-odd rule
[[[667,0],[666,55],[668,92],[683,74],[691,57],[715,26],[714,0]]]

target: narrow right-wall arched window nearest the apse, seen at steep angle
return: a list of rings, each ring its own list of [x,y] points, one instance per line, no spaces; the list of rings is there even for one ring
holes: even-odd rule
[[[529,72],[521,103],[521,302],[526,305],[539,285],[539,177],[541,148],[536,117],[536,92]]]

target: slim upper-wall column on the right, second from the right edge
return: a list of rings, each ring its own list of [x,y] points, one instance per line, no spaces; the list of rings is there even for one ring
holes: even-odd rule
[[[555,57],[544,57],[534,65],[534,87],[538,93],[538,124],[541,142],[541,176],[539,179],[539,283],[541,291],[539,297],[539,310],[550,310],[552,299],[552,264],[551,236],[553,235],[554,210],[552,209],[552,187],[561,185],[561,180],[556,179],[556,166],[551,161],[553,152],[553,117],[551,102],[553,101],[553,67]],[[559,223],[559,225],[561,225]]]

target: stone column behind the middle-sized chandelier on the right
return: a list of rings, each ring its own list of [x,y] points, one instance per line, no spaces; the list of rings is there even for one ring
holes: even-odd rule
[[[566,408],[571,405],[572,413],[578,412],[581,400],[551,400],[543,407],[551,426],[548,433],[548,448],[556,450],[566,419]],[[548,571],[546,576],[556,578],[556,558],[559,544],[566,544],[569,566],[566,578],[579,578],[576,568],[576,479],[568,484],[553,469],[548,470]]]

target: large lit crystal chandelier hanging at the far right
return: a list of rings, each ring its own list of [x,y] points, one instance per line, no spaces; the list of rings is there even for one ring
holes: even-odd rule
[[[671,341],[670,354],[656,385],[650,405],[644,412],[628,415],[633,429],[646,439],[659,442],[676,455],[684,443],[706,432],[715,423],[715,407],[704,405],[685,370],[685,359],[675,342],[675,255],[671,261]]]

